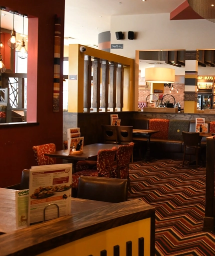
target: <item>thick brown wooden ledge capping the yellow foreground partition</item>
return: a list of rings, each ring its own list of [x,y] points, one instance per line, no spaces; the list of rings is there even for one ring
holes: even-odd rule
[[[155,208],[138,199],[93,208],[0,235],[0,256],[34,256],[80,238],[150,218],[154,250]],[[154,254],[154,253],[153,253]]]

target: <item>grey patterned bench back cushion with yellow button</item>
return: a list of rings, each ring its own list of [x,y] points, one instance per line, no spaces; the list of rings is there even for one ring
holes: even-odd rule
[[[168,124],[168,140],[182,141],[182,131],[189,132],[189,120],[170,119]]]

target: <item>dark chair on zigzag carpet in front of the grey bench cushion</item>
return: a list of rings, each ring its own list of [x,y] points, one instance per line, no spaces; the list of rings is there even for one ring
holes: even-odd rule
[[[183,137],[183,162],[182,167],[184,166],[184,161],[186,155],[189,155],[189,163],[191,162],[191,156],[195,156],[196,168],[198,166],[198,154],[200,152],[200,140],[201,137],[199,133],[190,133],[182,132]]]

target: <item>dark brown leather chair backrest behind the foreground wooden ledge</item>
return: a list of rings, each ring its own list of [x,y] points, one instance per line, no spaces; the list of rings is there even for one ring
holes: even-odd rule
[[[80,176],[77,197],[110,203],[127,201],[127,180]]]

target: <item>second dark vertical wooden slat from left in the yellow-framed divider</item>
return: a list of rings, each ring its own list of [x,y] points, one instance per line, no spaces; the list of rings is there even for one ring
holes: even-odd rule
[[[93,92],[92,92],[92,107],[99,111],[100,107],[100,59],[93,61]]]

